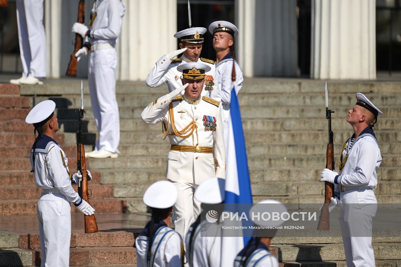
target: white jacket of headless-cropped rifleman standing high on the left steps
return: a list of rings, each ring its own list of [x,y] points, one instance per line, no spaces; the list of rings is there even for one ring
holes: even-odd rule
[[[121,0],[101,0],[98,6],[96,2],[92,6],[90,32],[85,41],[91,45],[101,43],[114,45],[120,35],[125,8]]]

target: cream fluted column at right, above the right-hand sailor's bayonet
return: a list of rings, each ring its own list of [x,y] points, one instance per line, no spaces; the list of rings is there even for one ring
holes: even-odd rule
[[[312,0],[314,79],[376,79],[375,0]]]

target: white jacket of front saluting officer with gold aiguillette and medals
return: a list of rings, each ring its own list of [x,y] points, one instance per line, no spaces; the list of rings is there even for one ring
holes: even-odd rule
[[[169,107],[172,109],[169,111]],[[203,125],[204,115],[215,117],[214,130],[207,130]],[[223,126],[221,122],[221,104],[207,97],[199,97],[192,101],[184,96],[169,99],[164,95],[150,103],[141,114],[142,121],[150,124],[164,122],[169,133],[174,134],[172,122],[177,131],[188,124],[196,125],[196,130],[186,138],[168,135],[170,144],[184,146],[201,146],[213,148],[213,154],[198,152],[173,151],[168,152],[166,178],[169,180],[201,184],[212,177],[225,178],[225,147]],[[195,126],[194,126],[195,127]],[[213,158],[214,156],[214,158]],[[215,171],[216,164],[216,171]]]

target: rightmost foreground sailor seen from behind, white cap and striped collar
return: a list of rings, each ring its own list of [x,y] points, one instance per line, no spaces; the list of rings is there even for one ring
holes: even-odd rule
[[[256,214],[257,212],[269,212],[272,214],[271,211],[282,214],[283,212],[287,212],[287,208],[279,201],[263,200],[252,206],[249,210],[249,216],[253,218],[252,214]],[[254,225],[262,227],[278,227],[283,223],[284,220],[281,218],[275,221],[253,221]],[[278,267],[278,260],[269,252],[271,239],[275,236],[277,230],[263,230],[257,234],[255,232],[254,237],[248,241],[245,247],[238,253],[237,257],[235,257],[234,267]],[[260,235],[263,235],[263,237]]]

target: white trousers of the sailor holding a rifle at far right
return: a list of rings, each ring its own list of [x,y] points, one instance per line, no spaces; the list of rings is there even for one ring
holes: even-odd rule
[[[372,247],[373,217],[377,206],[364,205],[377,203],[373,190],[347,190],[341,192],[340,227],[344,252],[348,267],[375,266],[375,255]],[[356,203],[353,205],[344,205]],[[363,228],[363,229],[362,229]],[[353,233],[358,236],[352,236]],[[369,237],[360,237],[367,233]]]

